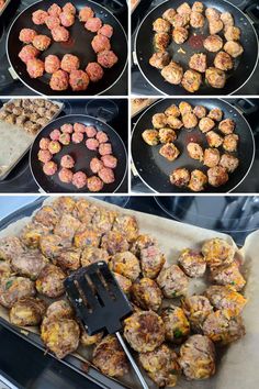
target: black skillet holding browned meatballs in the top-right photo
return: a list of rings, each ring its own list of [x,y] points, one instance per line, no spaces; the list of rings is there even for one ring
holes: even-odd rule
[[[188,1],[190,5],[192,5],[194,0]],[[144,19],[136,34],[135,41],[135,53],[137,65],[147,79],[148,82],[153,85],[154,88],[159,90],[165,95],[169,96],[182,96],[182,95],[193,95],[189,93],[181,86],[173,86],[167,82],[160,71],[154,67],[151,67],[148,63],[149,58],[154,53],[154,32],[153,32],[153,22],[157,18],[161,18],[162,13],[168,8],[177,9],[180,4],[183,3],[183,0],[168,0],[162,2],[155,9],[153,9]],[[235,59],[235,68],[232,71],[227,73],[227,81],[223,89],[215,89],[210,87],[204,81],[201,85],[196,95],[205,96],[205,95],[232,95],[241,88],[254,74],[257,63],[258,63],[258,36],[256,30],[251,21],[246,16],[246,14],[240,11],[237,7],[224,0],[205,0],[203,1],[206,8],[214,7],[221,12],[230,12],[235,19],[235,25],[241,30],[241,38],[240,43],[244,46],[244,53],[240,57]],[[196,36],[193,36],[193,33]],[[203,47],[203,40],[210,35],[207,21],[203,29],[193,29],[190,27],[189,38],[182,45],[177,45],[173,41],[169,46],[169,53],[172,56],[173,60],[180,63],[183,66],[183,69],[187,70],[189,68],[189,59],[194,53],[206,53],[209,58],[209,66],[213,66],[213,60],[215,57],[215,53],[209,53]],[[218,35],[223,37],[223,33],[221,32]],[[182,48],[185,54],[178,53],[179,48]]]

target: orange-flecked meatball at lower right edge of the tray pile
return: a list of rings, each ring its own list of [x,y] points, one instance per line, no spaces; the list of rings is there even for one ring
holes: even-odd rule
[[[246,333],[241,316],[229,318],[227,310],[211,313],[202,329],[204,335],[224,345],[238,341]]]

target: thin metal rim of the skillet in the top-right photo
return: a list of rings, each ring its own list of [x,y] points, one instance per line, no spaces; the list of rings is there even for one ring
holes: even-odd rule
[[[135,54],[136,54],[135,57],[136,57],[136,62],[137,62],[136,65],[137,65],[139,71],[140,71],[140,74],[142,74],[143,77],[146,79],[146,81],[147,81],[154,89],[156,89],[159,93],[161,93],[162,96],[173,96],[173,95],[167,95],[166,92],[164,92],[162,90],[160,90],[158,87],[156,87],[155,85],[153,85],[153,82],[147,78],[147,76],[144,74],[144,71],[143,71],[140,65],[139,65],[138,53],[137,53],[137,48],[136,48],[136,47],[137,47],[137,38],[138,38],[138,35],[139,35],[139,30],[140,30],[140,27],[142,27],[143,23],[145,22],[145,20],[147,19],[147,16],[148,16],[154,10],[156,10],[158,7],[165,4],[165,3],[169,2],[169,1],[170,1],[170,0],[165,0],[165,1],[161,2],[160,4],[154,7],[154,8],[146,14],[146,16],[143,19],[143,21],[140,22],[140,24],[139,24],[139,26],[138,26],[138,29],[137,29],[136,36],[135,36],[135,42],[134,42],[134,52],[135,52]],[[249,77],[247,78],[247,80],[246,80],[241,86],[239,86],[237,89],[233,90],[230,93],[227,95],[227,96],[232,96],[232,95],[238,92],[238,90],[241,89],[241,88],[250,80],[250,78],[252,77],[254,73],[256,71],[256,68],[257,68],[257,65],[258,65],[258,62],[259,62],[259,37],[258,37],[258,35],[257,35],[257,32],[256,32],[256,29],[255,29],[255,26],[254,26],[254,23],[251,22],[251,20],[247,16],[247,14],[246,14],[244,11],[241,11],[237,5],[230,3],[228,0],[222,0],[222,1],[224,1],[225,3],[227,3],[227,4],[229,4],[229,5],[234,7],[234,8],[236,8],[236,9],[246,18],[247,22],[249,23],[249,25],[251,26],[251,29],[252,29],[252,31],[254,31],[254,34],[255,34],[256,41],[257,41],[257,59],[256,59],[254,69],[252,69],[252,71],[250,73],[250,75],[249,75]],[[172,87],[172,88],[173,88],[173,87]],[[181,96],[181,95],[179,95],[179,96]],[[200,97],[199,93],[187,93],[187,95],[183,95],[183,96],[190,96],[190,97],[192,97],[192,96],[198,97],[198,96],[199,96],[199,97]],[[209,96],[213,96],[213,95],[201,95],[201,96],[209,97]],[[218,96],[221,96],[221,95],[218,95]],[[226,95],[222,95],[222,96],[224,97],[224,96],[226,96]]]

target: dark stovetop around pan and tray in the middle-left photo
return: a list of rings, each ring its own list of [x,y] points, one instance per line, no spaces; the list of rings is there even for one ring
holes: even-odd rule
[[[4,101],[0,100],[0,107]],[[56,99],[56,101],[64,102],[64,109],[59,116],[80,113],[97,116],[108,122],[122,137],[127,149],[127,131],[125,130],[127,129],[126,99]],[[36,193],[40,189],[31,174],[27,153],[10,175],[3,181],[0,181],[0,193]],[[117,192],[127,192],[127,175]]]

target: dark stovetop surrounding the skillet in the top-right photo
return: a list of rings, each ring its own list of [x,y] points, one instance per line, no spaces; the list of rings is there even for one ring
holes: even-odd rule
[[[258,4],[257,0],[228,0],[230,3],[238,7],[240,10],[246,12],[246,10],[252,4]],[[140,4],[136,8],[132,15],[132,53],[135,47],[135,37],[136,32],[142,23],[145,15],[155,7],[165,2],[165,0],[145,0],[140,1]],[[259,18],[259,7],[254,11],[256,18]],[[259,23],[254,23],[254,26],[259,35]],[[145,79],[145,77],[139,71],[137,65],[134,65],[134,60],[132,58],[132,93],[136,96],[159,96],[162,95],[157,89],[153,88],[153,86]],[[257,68],[249,79],[249,81],[241,87],[237,92],[233,95],[237,96],[248,96],[248,95],[258,95],[259,93],[259,63]]]

